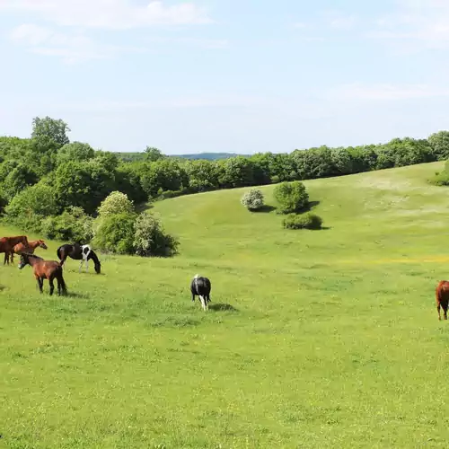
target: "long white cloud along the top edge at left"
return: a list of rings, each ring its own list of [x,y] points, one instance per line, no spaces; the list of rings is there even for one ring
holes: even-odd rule
[[[0,10],[40,14],[61,26],[126,30],[155,25],[211,23],[207,12],[192,3],[164,5],[153,0],[136,6],[130,0],[0,0]]]

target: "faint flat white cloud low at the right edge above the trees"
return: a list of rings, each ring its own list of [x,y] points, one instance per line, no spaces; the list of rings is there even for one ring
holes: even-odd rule
[[[344,84],[327,93],[328,98],[362,101],[401,101],[449,96],[449,88],[427,84]]]

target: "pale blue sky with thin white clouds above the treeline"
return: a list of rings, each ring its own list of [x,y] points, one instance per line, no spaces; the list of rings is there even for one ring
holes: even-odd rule
[[[0,136],[164,154],[449,129],[448,0],[0,0]]]

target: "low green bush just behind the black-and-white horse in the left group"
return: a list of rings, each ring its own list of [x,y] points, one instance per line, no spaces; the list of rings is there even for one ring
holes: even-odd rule
[[[93,237],[92,222],[81,207],[68,207],[62,215],[43,220],[41,232],[49,239],[88,243]]]

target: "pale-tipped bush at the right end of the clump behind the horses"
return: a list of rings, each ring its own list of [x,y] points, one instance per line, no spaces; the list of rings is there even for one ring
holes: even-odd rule
[[[134,225],[134,250],[143,257],[168,257],[178,251],[178,240],[163,231],[163,226],[152,214],[145,212],[137,216]]]

